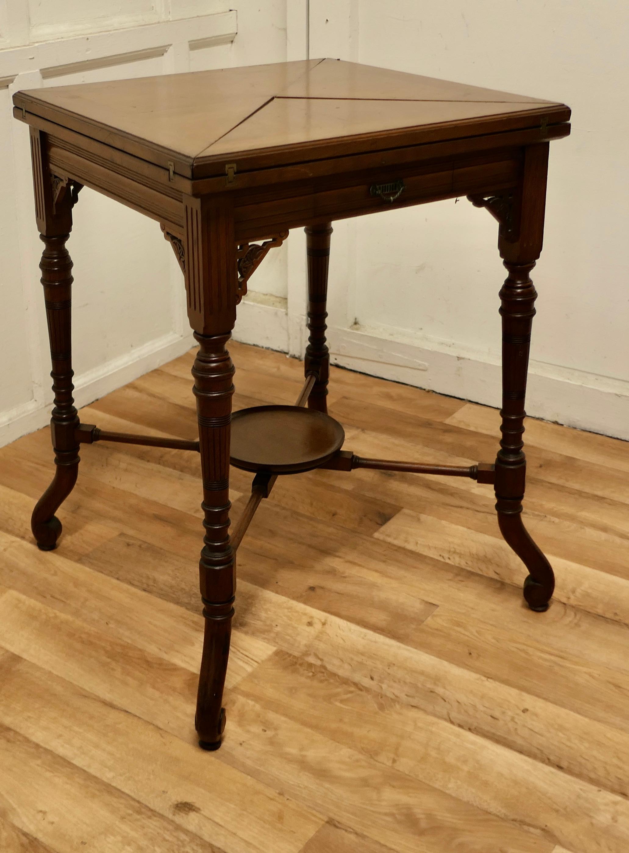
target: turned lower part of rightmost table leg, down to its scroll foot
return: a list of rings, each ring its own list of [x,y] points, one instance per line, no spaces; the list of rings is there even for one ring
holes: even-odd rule
[[[526,480],[526,457],[523,421],[527,390],[528,351],[537,293],[529,273],[530,264],[504,262],[509,276],[500,291],[503,318],[503,408],[502,439],[496,459],[496,510],[498,525],[505,541],[528,569],[524,582],[524,598],[538,612],[548,609],[555,589],[555,576],[544,554],[525,528],[521,512]]]

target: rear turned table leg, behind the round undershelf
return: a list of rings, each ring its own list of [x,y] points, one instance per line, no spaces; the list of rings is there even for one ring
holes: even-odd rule
[[[325,343],[325,310],[328,299],[329,241],[332,225],[329,222],[311,225],[306,230],[308,261],[308,345],[304,370],[306,377],[315,374],[317,381],[308,397],[308,407],[328,411],[329,351]]]

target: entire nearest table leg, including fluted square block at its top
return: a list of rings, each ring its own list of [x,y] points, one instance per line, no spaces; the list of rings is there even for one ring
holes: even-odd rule
[[[228,194],[226,194],[228,195]],[[218,749],[225,725],[223,689],[236,594],[230,545],[230,427],[234,367],[226,344],[236,322],[236,235],[229,197],[184,196],[182,243],[188,317],[199,342],[195,377],[203,481],[199,562],[205,617],[195,727],[199,746]]]

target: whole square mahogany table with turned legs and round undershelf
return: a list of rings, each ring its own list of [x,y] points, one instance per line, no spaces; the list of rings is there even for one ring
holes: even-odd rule
[[[200,453],[206,627],[195,724],[203,748],[217,749],[224,729],[236,548],[282,473],[368,467],[493,484],[500,531],[527,566],[528,606],[547,608],[553,572],[522,522],[522,433],[536,297],[530,272],[542,248],[549,142],[568,136],[568,107],[335,60],[46,88],[17,92],[14,103],[15,117],[31,125],[55,390],[55,477],[33,512],[33,534],[40,548],[55,547],[61,532],[55,512],[76,481],[81,443]],[[199,343],[192,371],[198,442],[79,424],[65,244],[83,185],[160,223],[177,256]],[[331,223],[460,195],[498,220],[508,272],[500,292],[502,440],[495,465],[373,460],[341,450],[342,427],[326,403]],[[294,227],[306,227],[306,385],[296,407],[237,415],[230,449],[234,368],[227,343],[236,306],[266,252]],[[300,408],[306,402],[308,409]],[[230,456],[256,472],[231,540]]]

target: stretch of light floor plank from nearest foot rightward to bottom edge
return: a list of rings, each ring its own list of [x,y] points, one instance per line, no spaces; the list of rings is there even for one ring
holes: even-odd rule
[[[232,693],[230,723],[221,760],[400,853],[486,853],[500,845],[505,853],[550,853],[554,846],[240,694]]]

